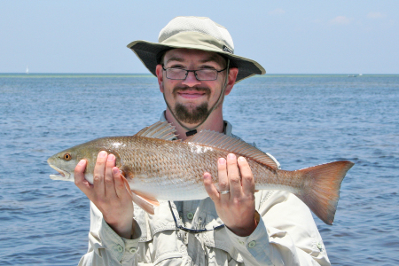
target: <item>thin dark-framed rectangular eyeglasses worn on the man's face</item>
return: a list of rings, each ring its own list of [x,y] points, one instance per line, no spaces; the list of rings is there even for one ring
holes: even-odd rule
[[[215,81],[217,79],[217,74],[227,69],[216,70],[216,69],[199,69],[199,70],[187,70],[183,68],[169,67],[165,68],[162,65],[163,70],[167,73],[167,78],[169,80],[185,80],[189,72],[193,72],[195,78],[198,81]]]

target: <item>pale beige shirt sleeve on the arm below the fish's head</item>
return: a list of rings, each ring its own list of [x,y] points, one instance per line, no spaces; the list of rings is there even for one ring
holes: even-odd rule
[[[137,265],[137,246],[141,231],[134,220],[133,239],[121,238],[103,219],[98,208],[90,202],[89,249],[79,266]]]

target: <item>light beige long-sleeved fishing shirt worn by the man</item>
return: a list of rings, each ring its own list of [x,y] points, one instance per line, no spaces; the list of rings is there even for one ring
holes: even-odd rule
[[[161,116],[161,121],[166,121]],[[231,124],[225,121],[225,134]],[[233,136],[234,137],[234,136]],[[104,221],[90,202],[89,250],[79,265],[330,265],[323,240],[309,208],[283,191],[255,193],[261,220],[248,237],[228,228],[198,234],[176,230],[168,201],[155,214],[134,205],[134,239],[123,239]],[[209,198],[175,201],[172,209],[185,228],[213,229],[223,224]]]

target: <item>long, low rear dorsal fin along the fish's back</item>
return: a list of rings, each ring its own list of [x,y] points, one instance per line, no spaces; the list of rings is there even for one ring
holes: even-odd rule
[[[251,160],[256,160],[270,168],[278,169],[278,163],[268,154],[263,153],[253,145],[249,145],[239,138],[229,137],[219,132],[201,130],[200,133],[185,139],[184,142],[222,149],[229,153],[235,153],[250,158]]]

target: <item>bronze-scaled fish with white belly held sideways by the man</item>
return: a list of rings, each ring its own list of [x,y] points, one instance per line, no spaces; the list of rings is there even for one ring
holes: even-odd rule
[[[254,175],[255,190],[283,190],[293,193],[324,223],[332,225],[340,184],[354,165],[349,160],[302,168],[279,168],[269,154],[237,137],[201,130],[185,139],[176,138],[168,121],[159,121],[134,136],[100,137],[52,155],[47,162],[59,172],[53,180],[74,182],[74,168],[87,160],[84,177],[93,184],[93,171],[100,151],[112,153],[125,186],[139,207],[153,214],[159,200],[203,200],[208,197],[203,174],[217,184],[217,160],[228,153],[246,158]]]

